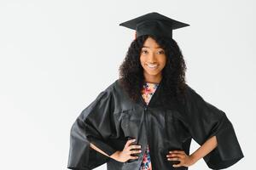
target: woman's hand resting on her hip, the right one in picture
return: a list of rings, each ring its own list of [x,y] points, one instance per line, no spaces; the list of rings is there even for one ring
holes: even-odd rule
[[[190,167],[196,161],[192,156],[188,156],[183,150],[172,150],[166,155],[168,161],[180,161],[178,164],[173,164],[173,167]]]

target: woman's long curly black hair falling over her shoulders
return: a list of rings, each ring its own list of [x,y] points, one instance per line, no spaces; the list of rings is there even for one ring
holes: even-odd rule
[[[164,101],[182,99],[186,86],[187,69],[181,49],[177,42],[168,37],[140,36],[131,42],[123,63],[119,66],[119,80],[130,98],[136,101],[143,89],[143,66],[140,63],[141,49],[148,37],[152,37],[165,50],[166,65],[161,71],[163,78]]]

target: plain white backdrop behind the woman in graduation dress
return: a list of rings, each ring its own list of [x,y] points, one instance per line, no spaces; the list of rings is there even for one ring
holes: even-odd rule
[[[134,31],[119,26],[159,12],[173,31],[187,82],[224,111],[253,169],[256,143],[255,1],[0,1],[1,169],[67,169],[70,128],[119,77]],[[190,152],[199,147],[194,141]],[[106,165],[96,168],[106,169]],[[201,159],[191,170],[209,169]]]

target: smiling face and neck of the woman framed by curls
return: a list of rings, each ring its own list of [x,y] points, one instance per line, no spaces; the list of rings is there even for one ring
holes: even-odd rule
[[[159,82],[161,71],[166,65],[166,54],[164,49],[160,48],[152,37],[148,37],[144,42],[143,48],[141,49],[140,61],[146,81]]]

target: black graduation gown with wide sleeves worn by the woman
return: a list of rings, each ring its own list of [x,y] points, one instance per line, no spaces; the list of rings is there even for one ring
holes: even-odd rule
[[[107,162],[109,170],[139,169],[148,144],[153,169],[170,170],[177,161],[166,160],[168,151],[184,150],[190,155],[191,139],[201,145],[214,135],[218,146],[203,157],[209,168],[230,167],[244,157],[234,127],[224,111],[207,103],[188,84],[185,102],[164,103],[162,83],[148,106],[142,97],[132,102],[119,80],[98,94],[73,123],[67,167],[88,170]],[[139,158],[124,163],[109,158],[116,150],[123,150],[128,137],[136,138],[137,144],[142,145]],[[108,156],[90,148],[90,143]]]

